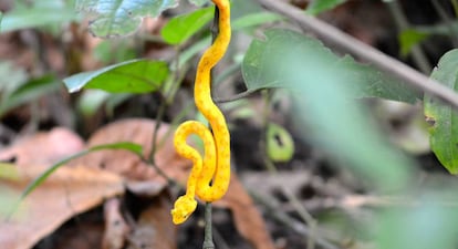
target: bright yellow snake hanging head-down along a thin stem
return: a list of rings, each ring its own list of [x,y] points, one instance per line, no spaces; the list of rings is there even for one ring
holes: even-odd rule
[[[197,121],[187,121],[175,132],[174,144],[177,153],[192,160],[186,186],[186,194],[175,201],[171,209],[174,224],[181,224],[197,207],[195,195],[204,201],[220,199],[230,181],[230,137],[225,116],[211,98],[210,71],[225,55],[229,45],[230,3],[229,0],[211,0],[219,10],[218,37],[205,51],[197,66],[194,97],[197,108],[210,123],[212,133]],[[186,143],[190,134],[204,141],[205,156]]]

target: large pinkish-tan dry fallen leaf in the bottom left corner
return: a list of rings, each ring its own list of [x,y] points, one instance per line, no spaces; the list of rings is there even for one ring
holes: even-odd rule
[[[19,179],[0,180],[0,184],[19,195],[45,168],[18,165]],[[22,201],[20,211],[9,219],[1,219],[0,245],[8,249],[32,248],[74,215],[123,193],[123,179],[112,173],[63,166]]]

